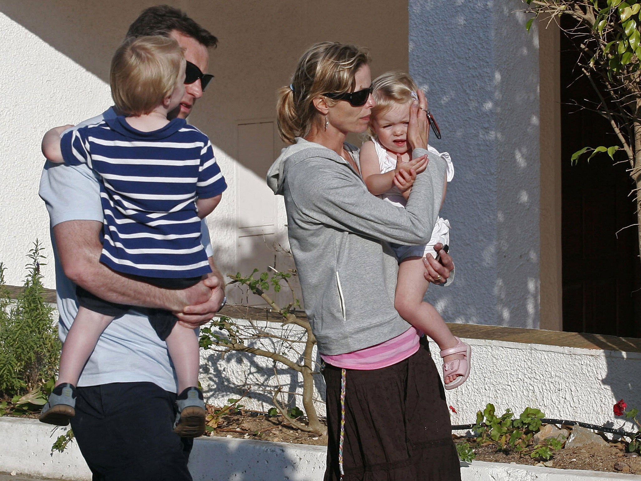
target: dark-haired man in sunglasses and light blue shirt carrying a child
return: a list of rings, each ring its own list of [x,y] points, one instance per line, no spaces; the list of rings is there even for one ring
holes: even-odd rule
[[[203,78],[203,72],[208,67],[208,47],[215,47],[217,38],[166,5],[147,8],[131,24],[127,36],[142,35],[174,38],[185,49],[186,60],[199,69],[197,80],[185,85],[185,96],[173,113],[186,118],[203,96],[203,82],[210,80]],[[79,125],[115,115],[109,108]],[[78,312],[74,284],[108,301],[172,310],[183,324],[194,328],[221,308],[224,283],[213,262],[204,223],[203,244],[213,273],[194,287],[170,291],[126,278],[98,262],[103,210],[99,183],[86,165],[47,163],[40,196],[51,218],[62,340]],[[167,345],[149,325],[144,310],[130,310],[106,328],[77,392],[71,426],[94,481],[192,479],[187,469],[192,441],[172,432],[176,417],[173,366]]]

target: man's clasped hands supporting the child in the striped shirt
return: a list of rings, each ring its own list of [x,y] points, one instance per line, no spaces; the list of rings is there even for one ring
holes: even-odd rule
[[[212,266],[212,273],[208,278],[189,289],[185,289],[185,294],[187,296],[193,295],[195,300],[188,302],[189,305],[182,312],[174,312],[179,323],[185,327],[196,329],[198,326],[208,323],[221,308],[222,300],[225,297],[222,274],[213,264],[212,258],[210,258],[210,266]],[[206,292],[204,298],[202,297],[203,289]]]

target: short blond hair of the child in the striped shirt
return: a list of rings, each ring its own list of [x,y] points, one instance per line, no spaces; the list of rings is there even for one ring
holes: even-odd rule
[[[112,58],[109,80],[115,106],[126,115],[144,115],[176,88],[183,49],[173,38],[128,38]]]

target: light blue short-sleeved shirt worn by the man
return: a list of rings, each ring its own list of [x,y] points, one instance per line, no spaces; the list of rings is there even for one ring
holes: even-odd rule
[[[109,108],[102,115],[81,122],[74,128],[115,118]],[[99,181],[83,165],[46,162],[40,179],[40,197],[45,201],[51,228],[65,221],[103,222]],[[208,228],[203,221],[203,246],[212,255]],[[78,313],[76,285],[65,276],[58,260],[53,230],[51,243],[56,267],[56,293],[60,319],[58,333],[64,341]],[[130,310],[114,319],[104,330],[96,349],[83,370],[79,386],[112,382],[153,382],[166,391],[176,392],[176,376],[169,359],[167,344],[160,340],[144,314]]]

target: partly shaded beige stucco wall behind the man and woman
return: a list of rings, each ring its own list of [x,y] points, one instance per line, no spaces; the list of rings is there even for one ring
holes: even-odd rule
[[[281,148],[275,124],[269,123],[275,120],[275,92],[289,83],[304,49],[321,40],[353,42],[369,47],[373,75],[407,69],[407,2],[380,1],[385,8],[365,0],[169,2],[220,40],[210,60],[215,79],[190,121],[212,139],[229,183],[209,218],[223,272],[263,270],[274,264],[274,255],[280,257],[272,244],[286,240],[284,209],[262,179]],[[21,282],[24,253],[36,237],[51,259],[48,218],[37,198],[40,136],[110,105],[105,80],[113,50],[129,23],[151,4],[0,1],[0,261],[8,267],[9,283]],[[44,274],[47,287],[54,287],[53,265],[44,267]]]

